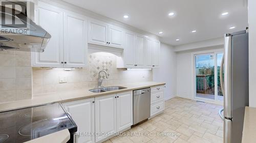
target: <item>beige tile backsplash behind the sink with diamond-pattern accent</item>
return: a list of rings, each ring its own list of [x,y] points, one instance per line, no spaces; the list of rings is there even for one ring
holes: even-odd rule
[[[109,78],[102,85],[152,81],[152,70],[121,70],[116,68],[116,55],[106,52],[92,53],[88,67],[71,71],[49,68],[33,68],[33,94],[52,93],[65,90],[93,89],[98,84],[98,72],[105,70]],[[59,83],[59,77],[67,77],[66,83]],[[100,77],[105,78],[101,73]]]

